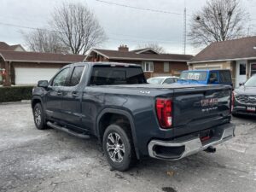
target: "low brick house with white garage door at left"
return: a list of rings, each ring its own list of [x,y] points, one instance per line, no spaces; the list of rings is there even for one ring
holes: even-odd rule
[[[84,61],[85,55],[63,55],[0,49],[0,83],[37,84],[38,80],[49,80],[61,67]]]

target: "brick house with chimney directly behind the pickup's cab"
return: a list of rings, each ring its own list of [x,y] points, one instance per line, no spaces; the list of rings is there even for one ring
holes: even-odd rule
[[[179,75],[187,70],[187,61],[192,55],[160,54],[154,49],[130,50],[126,45],[118,50],[91,49],[85,61],[112,61],[142,65],[146,78],[164,75]]]

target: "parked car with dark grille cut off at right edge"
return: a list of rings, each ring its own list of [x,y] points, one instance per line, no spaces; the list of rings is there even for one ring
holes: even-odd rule
[[[256,115],[256,74],[234,90],[233,94],[233,115],[239,113]]]

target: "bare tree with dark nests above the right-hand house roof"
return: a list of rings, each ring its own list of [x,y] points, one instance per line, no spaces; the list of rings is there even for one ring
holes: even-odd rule
[[[208,0],[193,15],[189,38],[195,47],[241,38],[247,34],[248,19],[239,0]]]

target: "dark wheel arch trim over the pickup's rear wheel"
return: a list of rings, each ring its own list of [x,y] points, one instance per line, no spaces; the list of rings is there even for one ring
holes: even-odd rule
[[[113,114],[113,115],[121,115],[123,117],[125,117],[131,127],[131,137],[132,137],[132,141],[134,144],[134,149],[136,152],[136,156],[137,159],[139,160],[139,151],[137,148],[137,135],[136,135],[136,131],[135,131],[135,125],[134,125],[134,120],[133,117],[131,115],[131,113],[123,110],[123,109],[113,109],[113,108],[105,108],[102,110],[102,112],[98,115],[97,119],[96,119],[96,137],[98,137],[98,140],[100,142],[102,142],[102,135],[101,135],[101,129],[102,129],[102,125],[101,125],[101,121],[104,118],[105,115],[108,114]]]

